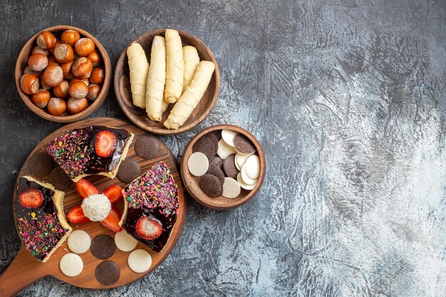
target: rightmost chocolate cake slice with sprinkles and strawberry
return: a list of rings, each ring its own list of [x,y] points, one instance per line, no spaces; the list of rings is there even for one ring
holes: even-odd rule
[[[167,244],[177,220],[178,187],[164,162],[123,189],[125,209],[120,225],[153,251]]]

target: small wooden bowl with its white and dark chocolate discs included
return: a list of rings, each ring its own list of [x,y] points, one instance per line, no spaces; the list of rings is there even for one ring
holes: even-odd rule
[[[208,127],[187,144],[181,177],[197,202],[232,209],[248,202],[266,173],[264,150],[247,130],[235,125]]]

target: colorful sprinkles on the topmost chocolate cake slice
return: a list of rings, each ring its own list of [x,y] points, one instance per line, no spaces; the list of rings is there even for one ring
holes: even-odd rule
[[[75,178],[85,172],[90,160],[90,145],[88,133],[82,129],[68,130],[48,143],[48,153],[61,165],[70,178]]]

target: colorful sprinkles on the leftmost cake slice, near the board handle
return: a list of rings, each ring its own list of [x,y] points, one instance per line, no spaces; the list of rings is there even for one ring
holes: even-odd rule
[[[42,261],[66,234],[57,214],[38,214],[30,221],[23,217],[17,219],[19,231],[24,239],[26,249]]]

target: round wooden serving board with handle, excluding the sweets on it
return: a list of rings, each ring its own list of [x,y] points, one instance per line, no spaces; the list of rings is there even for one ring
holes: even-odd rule
[[[130,251],[129,252],[120,251],[118,248],[116,248],[115,254],[113,254],[113,256],[111,256],[107,260],[114,261],[116,264],[118,264],[118,266],[120,267],[120,278],[116,283],[114,283],[111,286],[103,286],[95,278],[95,268],[96,266],[98,266],[98,264],[100,264],[104,260],[96,259],[91,254],[90,250],[86,251],[84,254],[79,255],[81,256],[84,265],[82,273],[75,277],[68,277],[65,276],[62,273],[61,269],[59,268],[59,261],[61,257],[71,252],[68,249],[66,241],[63,243],[61,247],[59,247],[56,250],[56,252],[51,256],[51,258],[48,259],[48,261],[46,261],[46,263],[39,262],[36,258],[31,256],[31,254],[22,245],[14,261],[12,261],[12,263],[9,265],[6,271],[4,271],[4,273],[1,274],[0,276],[0,296],[15,296],[23,288],[45,276],[54,276],[60,279],[61,281],[65,281],[66,283],[71,283],[74,286],[79,286],[83,288],[103,289],[103,288],[114,288],[117,286],[123,286],[127,283],[131,283],[137,280],[138,278],[142,278],[142,276],[145,276],[147,273],[150,273],[150,271],[152,271],[158,265],[160,265],[161,262],[164,261],[164,259],[166,259],[166,257],[170,254],[170,251],[172,251],[173,247],[180,238],[182,228],[185,224],[187,204],[179,174],[180,171],[175,156],[172,155],[172,152],[170,152],[169,148],[160,140],[160,149],[158,150],[155,159],[144,160],[138,157],[137,155],[135,155],[135,149],[134,149],[135,141],[138,139],[140,135],[144,135],[147,132],[141,130],[138,127],[135,127],[134,125],[131,125],[130,123],[124,120],[118,120],[113,118],[94,118],[66,125],[65,127],[61,127],[60,129],[52,132],[50,135],[48,135],[48,137],[46,137],[36,146],[36,148],[31,152],[28,159],[25,161],[24,165],[21,167],[19,176],[17,177],[16,180],[16,187],[14,187],[13,203],[14,203],[15,222],[17,222],[16,207],[15,207],[16,188],[17,185],[19,184],[20,177],[24,175],[31,175],[31,173],[28,170],[28,162],[30,160],[30,157],[36,152],[43,151],[43,148],[46,147],[48,142],[50,142],[51,140],[53,140],[55,137],[65,132],[66,130],[87,127],[90,125],[105,125],[108,127],[122,128],[130,132],[133,132],[133,134],[135,134],[135,138],[133,139],[132,145],[130,145],[127,158],[132,158],[138,162],[138,164],[141,167],[141,174],[149,170],[150,167],[152,167],[152,165],[155,164],[155,162],[163,161],[169,167],[170,172],[172,172],[172,176],[174,177],[175,182],[177,183],[179,189],[178,192],[179,209],[177,214],[177,222],[175,223],[175,226],[172,229],[169,241],[167,241],[166,246],[164,247],[164,249],[162,249],[162,251],[160,251],[160,253],[152,251],[144,244],[138,243],[136,249],[145,249],[146,251],[149,251],[152,256],[152,266],[150,267],[149,271],[145,273],[135,273],[132,270],[130,270],[127,264],[127,259],[128,255],[130,254]],[[47,177],[36,178],[36,179],[48,182]],[[109,179],[108,177],[104,176],[94,176],[94,177],[86,177],[86,179],[92,182],[95,185],[95,187],[97,187],[100,191],[103,191],[103,189],[110,187],[113,184],[118,184],[120,187],[125,187],[127,185],[120,182],[118,178]],[[71,187],[69,187],[68,190],[66,190],[65,198],[63,200],[65,214],[68,214],[69,210],[72,207],[76,207],[81,203],[82,199],[81,197],[78,196],[75,186],[74,184],[72,184]],[[124,209],[124,202],[120,201],[118,202],[118,204],[116,204],[116,206],[122,212]],[[73,230],[82,229],[86,231],[90,235],[91,239],[93,239],[98,234],[108,234],[114,237],[114,232],[106,229],[99,222],[88,222],[83,224],[70,223],[70,224],[73,227]]]

